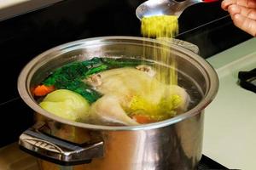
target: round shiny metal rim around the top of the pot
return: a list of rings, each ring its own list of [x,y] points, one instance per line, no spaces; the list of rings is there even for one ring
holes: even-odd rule
[[[93,129],[93,130],[109,130],[109,131],[133,131],[133,130],[147,130],[147,129],[154,129],[154,128],[160,128],[160,127],[166,127],[172,124],[175,124],[177,122],[181,122],[191,116],[195,116],[197,114],[200,114],[206,107],[212,102],[212,99],[215,98],[217,92],[218,92],[218,75],[216,71],[212,68],[212,65],[210,65],[206,59],[201,58],[198,54],[195,54],[191,51],[189,51],[186,48],[182,48],[176,44],[170,44],[168,46],[176,49],[181,49],[183,54],[188,54],[189,56],[193,57],[204,69],[207,73],[207,78],[209,79],[209,89],[207,93],[203,96],[203,99],[201,99],[201,102],[199,102],[198,105],[195,105],[194,108],[192,108],[189,111],[184,112],[181,115],[174,116],[170,119],[167,119],[165,121],[161,122],[153,122],[143,125],[137,125],[137,126],[105,126],[105,125],[94,125],[94,124],[87,124],[83,122],[73,122],[68,121],[67,119],[61,118],[60,116],[55,116],[54,114],[49,113],[48,111],[45,111],[43,108],[41,108],[37,102],[32,98],[32,94],[30,94],[29,90],[26,88],[27,84],[27,77],[29,75],[29,72],[32,70],[34,65],[38,63],[39,59],[44,58],[47,56],[47,54],[53,53],[55,51],[60,51],[61,49],[65,49],[67,47],[72,47],[75,44],[79,44],[81,42],[98,42],[101,40],[137,40],[137,41],[148,41],[148,42],[155,42],[157,40],[151,39],[151,38],[145,38],[145,37],[126,37],[126,36],[113,36],[113,37],[91,37],[86,38],[78,41],[73,42],[67,42],[64,44],[61,44],[59,46],[56,46],[55,48],[50,48],[49,50],[45,51],[42,54],[38,54],[34,59],[32,59],[29,63],[25,65],[25,67],[20,71],[20,76],[18,77],[18,92],[20,94],[21,99],[25,101],[26,105],[32,108],[33,111],[36,111],[37,113],[48,117],[49,119],[55,120],[56,122],[61,122],[64,124],[68,124],[74,127],[83,127],[87,129]],[[162,43],[160,41],[157,41],[158,43]],[[166,43],[165,43],[166,45]],[[180,51],[180,50],[179,50]]]

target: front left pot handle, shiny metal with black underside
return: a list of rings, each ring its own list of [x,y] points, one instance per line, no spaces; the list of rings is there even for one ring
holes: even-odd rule
[[[73,144],[41,133],[44,122],[38,122],[20,135],[20,149],[33,156],[60,165],[71,166],[90,163],[92,158],[103,156],[103,142]]]

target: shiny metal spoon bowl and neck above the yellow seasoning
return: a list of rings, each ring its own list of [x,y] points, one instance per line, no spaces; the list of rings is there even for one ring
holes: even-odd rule
[[[218,0],[184,0],[177,2],[175,0],[148,0],[136,9],[136,15],[139,20],[143,17],[154,16],[154,15],[177,15],[183,13],[185,8],[188,8],[195,3],[212,3]]]

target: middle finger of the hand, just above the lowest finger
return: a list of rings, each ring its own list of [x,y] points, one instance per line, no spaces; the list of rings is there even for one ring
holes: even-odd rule
[[[256,9],[246,8],[238,5],[230,5],[228,8],[230,15],[241,14],[249,19],[256,20]]]

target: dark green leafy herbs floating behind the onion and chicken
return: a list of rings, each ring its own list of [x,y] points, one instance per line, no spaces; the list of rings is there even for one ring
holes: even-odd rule
[[[93,58],[85,61],[76,61],[56,69],[45,81],[46,86],[54,86],[56,89],[69,89],[81,94],[90,103],[102,97],[102,94],[92,89],[82,80],[97,72],[124,66],[136,66],[148,61],[142,59],[125,58]]]

